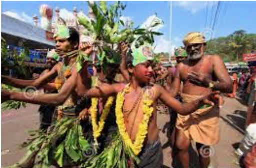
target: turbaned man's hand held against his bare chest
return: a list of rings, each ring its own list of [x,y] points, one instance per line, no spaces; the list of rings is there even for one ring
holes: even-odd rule
[[[197,73],[197,72],[189,73],[188,80],[189,82],[195,85],[203,86],[203,87],[209,87],[209,83],[211,82],[211,79],[208,76],[202,73]]]

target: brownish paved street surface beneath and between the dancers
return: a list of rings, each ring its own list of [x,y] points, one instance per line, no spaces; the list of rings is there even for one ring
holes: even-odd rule
[[[219,144],[213,146],[213,154],[211,156],[212,167],[219,168],[237,168],[237,158],[234,155],[234,147],[243,138],[243,130],[246,116],[246,106],[243,106],[236,99],[225,98],[225,105],[221,110],[221,140]],[[37,129],[39,127],[38,105],[27,105],[27,108],[19,110],[5,111],[1,113],[2,126],[2,166],[8,166],[16,163],[25,153],[19,145],[28,138],[28,130]],[[158,115],[158,127],[160,130],[160,138],[164,148],[164,164],[165,167],[171,167],[171,148],[169,147],[166,133],[162,132],[165,124],[168,124],[169,115]],[[192,150],[191,150],[192,151]],[[192,152],[192,160],[196,159],[196,153]],[[193,161],[192,167],[198,167]]]

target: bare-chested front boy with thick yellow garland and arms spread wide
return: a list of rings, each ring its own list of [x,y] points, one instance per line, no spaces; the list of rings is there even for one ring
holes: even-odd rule
[[[152,60],[153,51],[151,46],[143,45],[134,48],[126,58],[126,66],[130,74],[128,85],[102,84],[100,87],[83,92],[85,93],[84,97],[108,97],[118,94],[116,117],[119,132],[125,144],[130,146],[134,153],[140,157],[139,167],[161,167],[163,162],[162,147],[156,126],[155,107],[158,99],[181,115],[192,113],[205,103],[213,105],[213,102],[207,99],[211,94],[203,95],[193,102],[181,104],[168,94],[163,87],[150,84],[153,75]],[[82,92],[80,93],[82,94]],[[118,109],[121,109],[121,113],[118,112]],[[149,112],[150,110],[152,110],[152,113]],[[146,117],[149,118],[145,119]],[[142,127],[146,129],[145,136],[140,133]],[[127,134],[128,136],[126,136]],[[142,143],[140,146],[136,145],[138,138]]]

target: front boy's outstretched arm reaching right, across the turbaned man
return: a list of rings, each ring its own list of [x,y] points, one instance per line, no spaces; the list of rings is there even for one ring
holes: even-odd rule
[[[173,98],[172,95],[169,94],[163,87],[159,85],[156,85],[156,87],[156,89],[159,91],[158,96],[160,100],[181,115],[188,115],[196,111],[201,105],[204,104],[214,105],[213,102],[208,100],[211,94],[205,95],[204,97],[189,103],[180,103],[178,100]]]

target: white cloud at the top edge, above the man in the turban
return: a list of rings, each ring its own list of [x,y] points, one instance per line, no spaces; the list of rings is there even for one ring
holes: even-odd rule
[[[207,4],[208,3],[208,4]],[[217,1],[175,1],[173,3],[175,6],[184,8],[185,10],[190,11],[192,14],[208,7],[211,7],[217,4]]]

